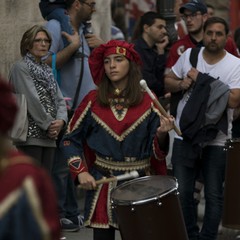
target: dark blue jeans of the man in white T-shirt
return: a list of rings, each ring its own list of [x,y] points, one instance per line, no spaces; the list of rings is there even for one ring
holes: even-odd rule
[[[173,145],[173,174],[179,184],[179,197],[189,240],[217,239],[218,226],[223,211],[223,183],[225,177],[226,152],[221,146],[207,146],[202,149],[201,159],[198,155],[192,166],[186,165],[186,149],[180,140]],[[195,180],[199,168],[204,180],[205,212],[203,226],[197,226],[196,204],[194,201]]]

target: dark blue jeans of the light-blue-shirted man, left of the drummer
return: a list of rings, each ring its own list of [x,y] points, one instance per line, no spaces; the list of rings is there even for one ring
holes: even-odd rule
[[[60,218],[78,216],[80,212],[76,196],[76,187],[74,186],[67,161],[58,148],[56,148],[52,176],[57,192]]]

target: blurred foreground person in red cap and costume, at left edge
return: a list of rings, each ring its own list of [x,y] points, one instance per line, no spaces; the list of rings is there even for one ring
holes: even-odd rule
[[[17,112],[12,89],[0,77],[0,239],[60,239],[51,179],[30,157],[12,149],[7,133]]]

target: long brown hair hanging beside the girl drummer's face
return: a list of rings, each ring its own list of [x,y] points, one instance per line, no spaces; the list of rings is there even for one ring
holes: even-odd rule
[[[129,62],[128,84],[124,90],[124,98],[127,100],[128,106],[139,104],[143,99],[143,92],[139,84],[142,74],[140,66],[135,62]],[[104,74],[101,83],[98,86],[97,100],[102,106],[109,106],[109,96],[112,95],[114,89],[109,78]]]

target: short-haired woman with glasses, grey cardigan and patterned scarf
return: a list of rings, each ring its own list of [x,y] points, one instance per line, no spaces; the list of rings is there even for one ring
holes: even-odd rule
[[[16,93],[24,94],[28,109],[26,141],[14,142],[16,147],[36,162],[52,170],[56,139],[67,122],[67,109],[52,69],[42,61],[51,46],[51,36],[39,25],[28,29],[21,40],[22,59],[10,72]]]

